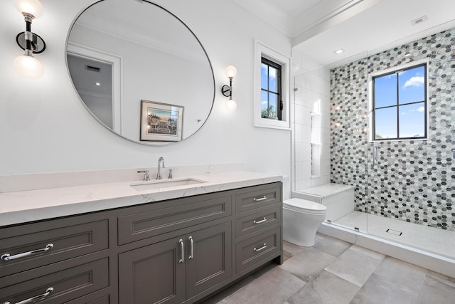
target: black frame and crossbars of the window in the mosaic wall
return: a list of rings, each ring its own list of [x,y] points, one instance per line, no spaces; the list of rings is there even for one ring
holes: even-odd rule
[[[424,67],[424,100],[419,100],[419,101],[415,101],[415,102],[412,102],[412,103],[400,103],[400,78],[399,78],[399,74],[404,72],[405,70],[412,70],[414,68],[419,68],[419,67]],[[428,65],[427,63],[418,63],[416,65],[411,65],[411,66],[408,66],[407,68],[399,68],[397,67],[395,70],[392,70],[388,73],[382,73],[382,74],[378,74],[378,75],[374,75],[372,76],[371,80],[372,80],[372,85],[373,85],[373,97],[372,97],[372,141],[384,141],[384,140],[427,140],[428,139],[428,86],[427,86],[427,73],[428,73]],[[381,78],[381,77],[384,77],[384,76],[387,76],[387,75],[396,75],[396,78],[397,78],[397,81],[396,81],[396,90],[397,90],[397,100],[396,100],[396,103],[395,105],[387,105],[385,107],[379,107],[379,108],[376,108],[376,105],[375,105],[375,90],[376,90],[376,86],[375,86],[375,80],[376,78]],[[400,137],[400,106],[403,106],[403,105],[413,105],[413,104],[416,104],[416,103],[423,103],[424,104],[424,108],[425,108],[425,115],[424,115],[424,135],[421,136],[421,137]],[[396,120],[396,124],[397,124],[397,137],[393,137],[393,138],[376,138],[376,110],[380,110],[380,109],[385,109],[385,108],[396,108],[397,109],[397,120]]]

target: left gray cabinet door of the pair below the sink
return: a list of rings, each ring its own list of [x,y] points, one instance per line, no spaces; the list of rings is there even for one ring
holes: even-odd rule
[[[120,253],[119,303],[182,303],[184,239],[182,236]]]

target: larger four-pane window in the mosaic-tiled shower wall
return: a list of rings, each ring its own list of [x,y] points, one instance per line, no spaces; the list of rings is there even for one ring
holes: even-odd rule
[[[427,63],[372,75],[372,140],[427,139]]]

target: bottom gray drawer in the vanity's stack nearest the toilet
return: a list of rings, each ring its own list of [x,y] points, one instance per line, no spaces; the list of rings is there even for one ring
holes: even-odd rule
[[[276,227],[235,245],[235,272],[267,260],[281,251],[281,228]]]

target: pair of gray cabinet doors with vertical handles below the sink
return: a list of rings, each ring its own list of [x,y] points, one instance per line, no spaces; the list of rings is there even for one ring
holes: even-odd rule
[[[232,276],[231,222],[119,254],[119,303],[183,303]]]

